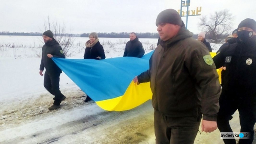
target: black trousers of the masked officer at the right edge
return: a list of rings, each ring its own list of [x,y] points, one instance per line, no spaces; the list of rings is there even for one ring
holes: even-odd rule
[[[234,112],[238,110],[241,129],[240,132],[250,132],[251,139],[240,139],[239,144],[251,144],[254,139],[254,124],[256,123],[256,96],[228,95],[222,92],[219,98],[219,112],[217,115],[217,126],[221,132],[233,132],[229,120]],[[225,144],[236,144],[236,140],[223,140]]]

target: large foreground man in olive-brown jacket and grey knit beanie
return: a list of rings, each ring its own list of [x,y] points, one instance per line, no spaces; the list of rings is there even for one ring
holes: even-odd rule
[[[156,26],[161,40],[150,69],[133,81],[150,82],[156,143],[193,144],[202,117],[202,131],[217,129],[221,85],[216,67],[208,48],[192,38],[178,12],[160,12]]]

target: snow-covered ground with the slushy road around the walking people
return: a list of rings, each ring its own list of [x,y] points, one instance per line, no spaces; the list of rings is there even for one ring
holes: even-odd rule
[[[75,38],[70,54],[82,59],[88,38]],[[99,38],[106,58],[122,56],[127,39]],[[157,39],[139,39],[146,53]],[[155,143],[151,101],[124,112],[103,111],[94,102],[85,103],[85,93],[62,73],[60,90],[67,97],[59,110],[39,75],[41,37],[0,36],[0,144],[5,143]],[[14,45],[14,46],[8,46]],[[220,44],[212,44],[217,50]],[[239,131],[238,113],[231,120]],[[201,130],[200,130],[201,131]],[[219,131],[197,135],[195,143],[223,143]]]

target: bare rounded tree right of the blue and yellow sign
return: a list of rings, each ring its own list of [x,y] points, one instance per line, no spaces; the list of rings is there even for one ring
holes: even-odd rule
[[[205,31],[210,39],[215,43],[220,42],[220,38],[223,35],[229,35],[232,28],[233,16],[229,13],[229,10],[216,11],[211,14],[208,20],[207,16],[200,18],[199,27]]]

